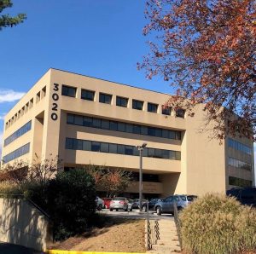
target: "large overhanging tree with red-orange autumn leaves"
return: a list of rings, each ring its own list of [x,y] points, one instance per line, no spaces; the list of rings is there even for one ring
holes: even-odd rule
[[[138,68],[177,88],[166,106],[193,116],[204,103],[218,139],[255,141],[255,0],[148,0],[146,6],[143,33],[155,37]]]

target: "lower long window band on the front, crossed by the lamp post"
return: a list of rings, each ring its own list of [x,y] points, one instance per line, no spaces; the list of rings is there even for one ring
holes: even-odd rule
[[[127,146],[121,144],[100,142],[100,141],[87,141],[75,138],[66,138],[66,149],[71,150],[83,150],[91,152],[101,152],[101,153],[117,153],[125,155],[138,156],[139,152],[137,147]],[[153,157],[159,159],[181,159],[181,153],[179,151],[171,151],[156,148],[144,148],[144,157]]]

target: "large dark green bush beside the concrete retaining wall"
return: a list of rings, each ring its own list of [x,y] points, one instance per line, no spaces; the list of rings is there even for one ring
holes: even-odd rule
[[[55,240],[90,228],[96,210],[95,199],[95,183],[84,170],[61,171],[49,181],[47,212],[55,223]]]

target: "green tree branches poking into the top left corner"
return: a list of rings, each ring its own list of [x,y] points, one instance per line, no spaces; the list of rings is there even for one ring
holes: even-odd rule
[[[11,0],[0,0],[0,13],[3,12],[3,9],[12,7],[13,3]],[[12,27],[17,26],[26,19],[26,14],[17,14],[16,16],[9,16],[9,14],[0,15],[0,30],[3,27]]]

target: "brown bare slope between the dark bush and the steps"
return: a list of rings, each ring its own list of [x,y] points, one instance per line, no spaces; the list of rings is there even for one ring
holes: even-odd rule
[[[109,219],[104,228],[93,228],[83,236],[71,237],[50,249],[72,251],[145,252],[145,221]]]

